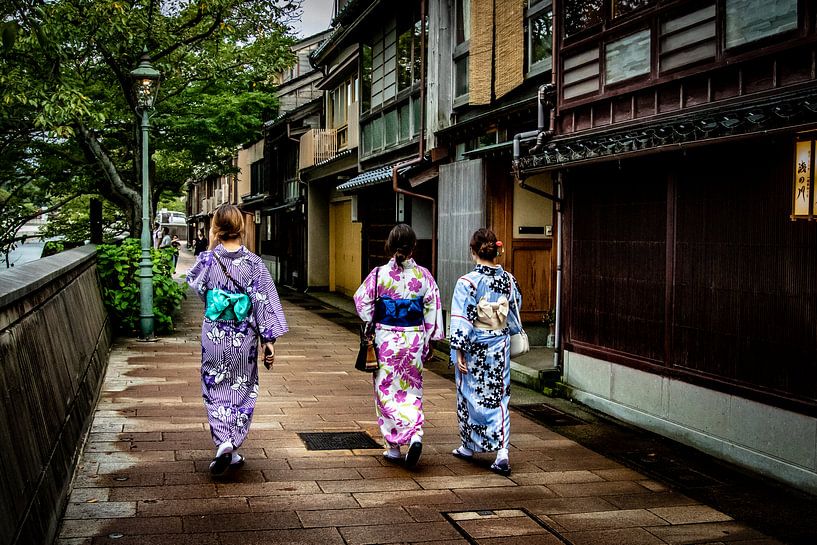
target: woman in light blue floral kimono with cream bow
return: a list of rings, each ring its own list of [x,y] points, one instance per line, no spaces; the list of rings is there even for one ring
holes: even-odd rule
[[[457,418],[462,445],[454,456],[496,452],[491,469],[510,475],[510,336],[521,330],[515,308],[522,296],[516,279],[496,256],[501,242],[490,229],[471,237],[474,270],[457,280],[451,303],[451,361],[456,365]]]

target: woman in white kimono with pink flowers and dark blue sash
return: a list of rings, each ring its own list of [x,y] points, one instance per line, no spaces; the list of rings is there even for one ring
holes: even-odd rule
[[[377,422],[388,446],[383,456],[399,460],[400,446],[409,445],[409,467],[423,448],[423,363],[431,356],[431,341],[444,336],[440,290],[431,273],[411,259],[416,244],[411,227],[395,226],[386,242],[392,259],[375,267],[354,296],[360,318],[375,323]]]

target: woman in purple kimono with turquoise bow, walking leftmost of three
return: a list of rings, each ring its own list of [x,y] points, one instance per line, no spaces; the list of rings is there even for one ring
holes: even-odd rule
[[[238,468],[236,452],[250,429],[258,397],[258,341],[264,365],[275,359],[275,339],[287,332],[269,271],[241,244],[244,218],[233,205],[213,214],[210,249],[198,255],[187,283],[206,303],[201,328],[202,397],[216,444],[213,475]]]

